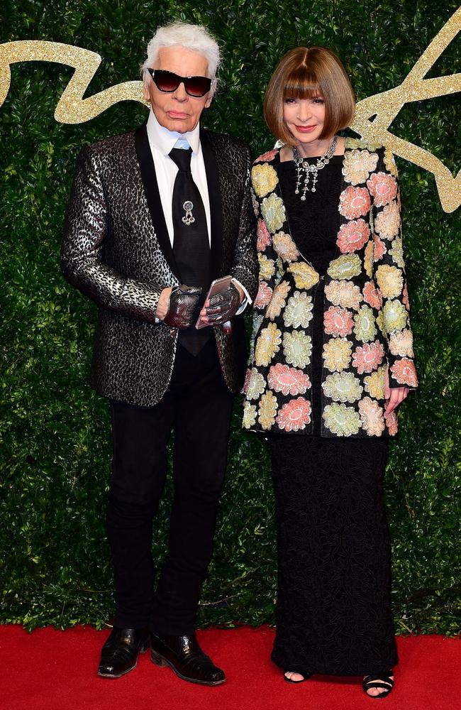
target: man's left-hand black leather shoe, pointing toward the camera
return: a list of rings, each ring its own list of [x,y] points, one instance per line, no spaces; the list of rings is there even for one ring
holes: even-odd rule
[[[136,667],[138,655],[149,648],[148,628],[113,627],[101,650],[98,675],[120,678]]]

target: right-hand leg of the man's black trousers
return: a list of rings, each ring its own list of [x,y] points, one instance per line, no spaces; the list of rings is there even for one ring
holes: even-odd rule
[[[189,386],[177,381],[170,545],[151,622],[158,633],[194,629],[226,471],[233,395],[223,381],[214,340],[197,357],[196,380]]]

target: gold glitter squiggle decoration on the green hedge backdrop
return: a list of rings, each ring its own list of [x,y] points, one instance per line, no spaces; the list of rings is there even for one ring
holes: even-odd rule
[[[404,104],[454,94],[461,90],[461,74],[424,79],[460,29],[461,7],[452,14],[399,86],[357,103],[355,117],[350,125],[352,131],[358,133],[364,141],[386,146],[400,158],[433,173],[445,212],[454,212],[461,204],[461,170],[453,178],[450,170],[441,160],[435,158],[435,155],[394,136],[388,129]],[[18,40],[0,45],[0,107],[9,92],[10,65],[14,62],[56,62],[74,67],[75,73],[55,109],[56,121],[63,124],[79,124],[94,119],[119,101],[138,101],[148,105],[143,97],[141,81],[116,84],[91,97],[83,98],[101,64],[101,56],[96,52],[60,42]]]

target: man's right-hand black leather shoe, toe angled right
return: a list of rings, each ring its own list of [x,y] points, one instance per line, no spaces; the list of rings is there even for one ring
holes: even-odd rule
[[[179,678],[202,685],[221,685],[226,682],[224,672],[201,650],[195,634],[171,636],[152,633],[150,644],[152,663],[170,666]]]

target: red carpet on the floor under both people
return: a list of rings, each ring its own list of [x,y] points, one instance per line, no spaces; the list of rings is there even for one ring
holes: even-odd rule
[[[118,680],[96,676],[107,632],[92,628],[26,633],[0,627],[1,710],[458,710],[461,643],[441,636],[398,638],[396,687],[376,707],[359,678],[314,676],[299,687],[284,683],[270,662],[270,628],[199,632],[204,650],[228,682],[206,688],[179,680],[150,662]]]

